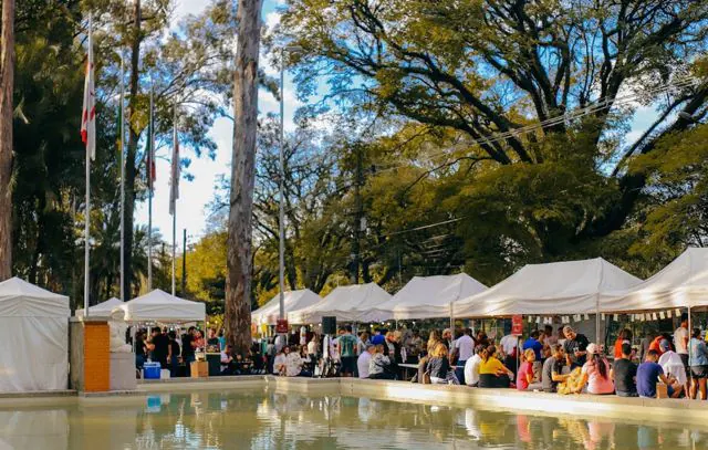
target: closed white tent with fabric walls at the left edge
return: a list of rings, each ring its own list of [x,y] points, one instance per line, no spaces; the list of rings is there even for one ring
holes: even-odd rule
[[[0,391],[66,389],[69,297],[18,278],[0,283]]]

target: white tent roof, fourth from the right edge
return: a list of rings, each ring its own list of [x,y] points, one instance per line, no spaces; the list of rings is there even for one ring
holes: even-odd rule
[[[288,314],[291,324],[321,323],[335,316],[339,322],[382,322],[392,318],[386,303],[392,295],[376,283],[340,286],[314,305]]]

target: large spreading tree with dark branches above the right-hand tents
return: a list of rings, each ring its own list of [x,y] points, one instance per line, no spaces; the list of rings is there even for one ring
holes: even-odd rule
[[[706,107],[708,82],[693,66],[708,34],[705,2],[325,3],[296,0],[283,17],[282,40],[302,49],[291,56],[301,91],[324,76],[323,102],[448,134],[396,171],[425,167],[417,182],[448,174],[437,201],[466,218],[467,258],[496,268],[602,251],[646,195],[627,161]],[[627,92],[659,108],[634,143],[622,139]]]

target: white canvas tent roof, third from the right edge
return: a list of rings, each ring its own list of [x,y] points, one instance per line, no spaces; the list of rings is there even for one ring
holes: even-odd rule
[[[449,317],[450,304],[487,290],[467,273],[414,276],[387,306],[397,321]]]

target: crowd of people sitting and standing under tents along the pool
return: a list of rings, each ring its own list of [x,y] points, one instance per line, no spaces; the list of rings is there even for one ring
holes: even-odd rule
[[[301,327],[288,335],[254,341],[247,353],[236,353],[223,334],[190,327],[183,334],[155,327],[136,334],[136,365],[148,358],[180,375],[180,366],[207,349],[219,352],[221,375],[272,374],[287,377],[358,377],[399,379],[421,384],[467,385],[478,388],[623,397],[690,397],[706,399],[708,347],[699,328],[689,332],[687,316],[670,334],[649,332],[633,346],[622,329],[614,346],[591,343],[571,326],[546,325],[528,336],[508,334],[496,342],[470,328],[424,339],[416,329],[376,328],[336,335]],[[410,367],[417,368],[410,378]]]

